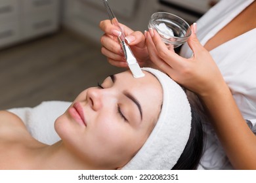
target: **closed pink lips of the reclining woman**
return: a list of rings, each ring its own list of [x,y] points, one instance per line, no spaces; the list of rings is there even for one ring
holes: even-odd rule
[[[79,103],[74,103],[73,107],[70,107],[68,111],[70,112],[70,115],[72,116],[72,118],[74,118],[76,122],[78,122],[81,125],[87,125],[85,122],[83,108]]]

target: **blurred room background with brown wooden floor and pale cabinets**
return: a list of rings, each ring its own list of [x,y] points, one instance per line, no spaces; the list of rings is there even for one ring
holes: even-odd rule
[[[108,0],[119,22],[144,31],[154,12],[188,24],[218,0]],[[100,53],[101,0],[0,0],[0,110],[73,101],[123,69]]]

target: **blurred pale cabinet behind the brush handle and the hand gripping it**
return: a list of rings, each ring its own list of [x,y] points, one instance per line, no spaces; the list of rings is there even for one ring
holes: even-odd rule
[[[104,4],[100,0],[65,0],[63,23],[81,35],[100,43],[102,35],[98,24],[108,19]],[[156,10],[156,0],[108,0],[119,22],[144,31],[150,15]]]

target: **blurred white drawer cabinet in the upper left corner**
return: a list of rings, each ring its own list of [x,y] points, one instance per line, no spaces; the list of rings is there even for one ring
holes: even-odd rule
[[[58,29],[59,0],[1,0],[0,48]]]

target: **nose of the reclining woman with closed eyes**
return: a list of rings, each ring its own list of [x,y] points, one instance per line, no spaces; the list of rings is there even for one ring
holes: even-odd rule
[[[93,110],[99,110],[102,107],[102,91],[98,88],[88,89],[87,101]]]

